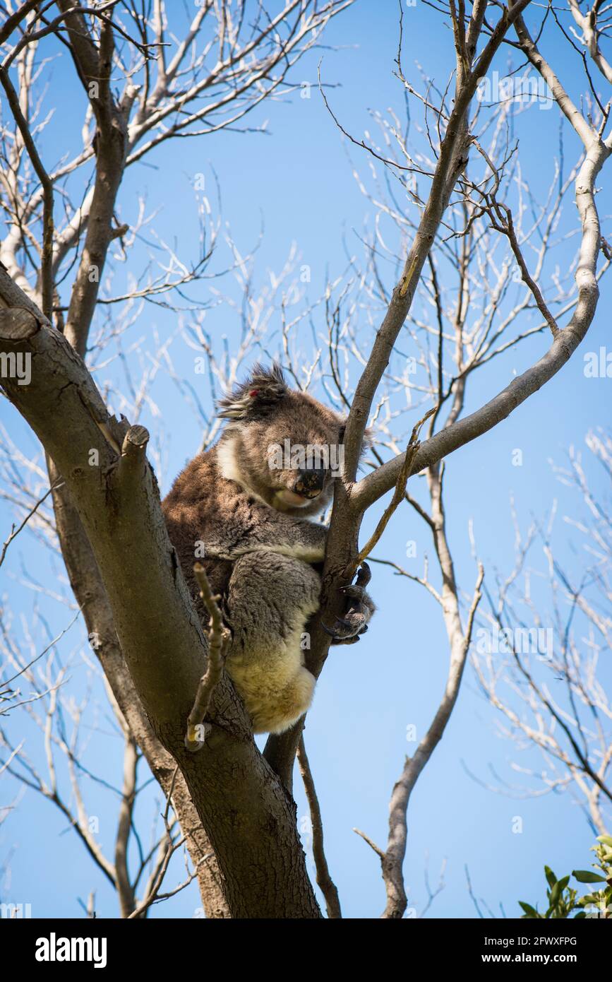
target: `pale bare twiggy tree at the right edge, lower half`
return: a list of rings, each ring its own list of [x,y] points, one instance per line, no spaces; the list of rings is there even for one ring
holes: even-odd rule
[[[589,463],[612,473],[610,437],[591,431],[586,444]],[[555,469],[580,503],[575,516],[564,517],[578,536],[578,561],[568,571],[555,558],[556,504],[546,522],[533,522],[525,535],[515,518],[515,565],[497,575],[496,595],[488,595],[473,664],[485,697],[503,717],[504,736],[517,749],[527,744],[538,751],[540,770],[526,774],[514,764],[534,779],[527,793],[569,791],[591,830],[605,836],[612,803],[612,710],[604,676],[611,626],[609,508],[589,488],[590,468],[575,448],[569,466]],[[530,562],[537,545],[543,571]]]

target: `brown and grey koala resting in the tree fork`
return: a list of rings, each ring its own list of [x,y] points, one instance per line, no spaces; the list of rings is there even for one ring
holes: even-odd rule
[[[162,508],[203,618],[196,560],[221,596],[231,635],[226,669],[254,733],[282,733],[315,688],[303,640],[319,607],[328,529],[311,519],[332,500],[344,420],[291,390],[276,363],[255,365],[219,415],[228,420],[219,442],[187,464]],[[332,643],[353,643],[367,630],[375,610],[368,579],[364,565],[343,588],[345,614],[326,627]]]

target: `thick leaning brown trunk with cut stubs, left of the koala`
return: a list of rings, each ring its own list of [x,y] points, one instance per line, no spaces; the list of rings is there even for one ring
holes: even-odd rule
[[[6,320],[0,317],[0,337]],[[30,384],[8,378],[3,385],[67,483],[129,674],[208,833],[231,916],[320,917],[295,805],[257,750],[228,681],[215,693],[213,731],[203,749],[190,754],[184,748],[206,642],[168,538],[142,428],[126,433],[125,422],[108,416],[81,358],[42,317],[31,317],[21,341],[4,344],[31,355]],[[98,465],[89,463],[92,449]]]

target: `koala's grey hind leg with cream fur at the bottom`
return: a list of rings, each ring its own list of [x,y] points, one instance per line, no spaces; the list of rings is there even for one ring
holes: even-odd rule
[[[254,733],[281,733],[310,706],[315,679],[304,668],[300,642],[320,590],[319,574],[302,560],[262,549],[234,563],[226,667]]]

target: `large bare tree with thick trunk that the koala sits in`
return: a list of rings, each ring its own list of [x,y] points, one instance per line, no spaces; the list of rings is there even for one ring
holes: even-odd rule
[[[233,126],[284,84],[291,59],[314,43],[326,21],[346,4],[331,3],[319,11],[308,3],[289,3],[276,18],[267,17],[264,9],[258,7],[255,41],[242,40],[242,6],[238,16],[232,17],[229,5],[205,5],[168,62],[161,4],[154,8],[152,34],[146,19],[135,9],[129,11],[137,26],[134,34],[134,28],[122,22],[124,11],[117,4],[104,5],[94,12],[75,10],[63,2],[57,6],[58,17],[47,20],[47,8],[24,4],[9,18],[1,35],[9,44],[8,64],[4,64],[1,81],[15,123],[7,137],[13,156],[7,154],[12,166],[5,210],[11,221],[8,245],[2,252],[4,267],[0,269],[0,296],[5,304],[0,337],[9,368],[30,364],[33,369],[27,385],[19,384],[16,371],[4,371],[3,387],[48,456],[55,520],[77,603],[89,633],[100,638],[96,654],[128,734],[142,750],[165,796],[172,796],[198,870],[205,908],[213,916],[227,913],[246,917],[318,917],[320,911],[306,873],[290,796],[303,721],[287,734],[271,736],[264,754],[260,754],[243,707],[229,681],[223,679],[215,687],[207,713],[210,733],[204,746],[195,754],[185,749],[185,723],[207,661],[206,637],[194,615],[161,517],[157,485],[146,459],[149,435],[138,423],[129,425],[127,419],[118,420],[109,414],[82,356],[86,354],[96,305],[112,300],[100,291],[109,246],[114,239],[121,241],[128,234],[128,229],[114,218],[126,167],[163,140],[183,132],[205,135],[222,126]],[[442,461],[505,419],[574,354],[595,315],[601,272],[597,271],[599,253],[603,249],[606,257],[608,254],[600,235],[594,189],[612,150],[612,136],[604,136],[609,108],[601,104],[587,71],[590,87],[586,98],[592,99],[592,109],[585,114],[579,110],[534,41],[534,36],[539,38],[538,26],[530,29],[523,19],[528,7],[529,0],[519,0],[501,10],[486,0],[477,0],[469,13],[463,3],[456,6],[451,2],[447,18],[455,45],[452,78],[445,92],[428,84],[425,94],[418,93],[407,81],[402,68],[400,13],[396,73],[407,97],[421,102],[429,149],[411,153],[401,131],[393,126],[386,136],[390,134],[396,140],[397,159],[389,156],[391,151],[387,153],[386,148],[379,152],[372,142],[362,143],[399,181],[408,199],[416,204],[418,218],[406,222],[401,208],[393,212],[399,216],[401,231],[410,245],[405,260],[400,253],[398,276],[389,296],[385,295],[377,272],[377,249],[373,246],[367,249],[367,276],[351,281],[352,298],[348,290],[334,293],[332,285],[325,298],[332,385],[336,397],[348,409],[348,418],[344,472],[335,485],[322,606],[311,628],[308,667],[319,675],[325,663],[329,636],[321,625],[331,623],[339,612],[337,587],[370,555],[392,513],[405,500],[427,522],[434,537],[442,583],[439,590],[431,584],[430,587],[440,603],[450,643],[446,691],[429,733],[415,756],[406,761],[393,791],[387,846],[376,847],[382,859],[387,895],[384,916],[389,918],[401,917],[406,907],[402,877],[406,808],[455,704],[483,581],[480,571],[467,619],[462,624],[445,534]],[[571,5],[570,13],[581,27],[580,10],[575,11]],[[209,27],[213,18],[215,29],[210,44],[219,46],[219,54],[215,69],[207,75],[209,49],[205,48],[206,53],[201,56],[192,55],[191,50],[200,28]],[[608,63],[599,48],[603,35],[596,23],[597,11],[593,10],[588,27],[581,28],[588,30],[588,37],[587,33],[584,35],[588,51],[585,66],[590,59],[607,78]],[[25,29],[20,27],[23,24]],[[14,30],[21,30],[17,42],[11,40]],[[47,174],[31,125],[30,99],[35,75],[32,44],[52,35],[59,36],[69,47],[89,109],[82,152],[70,164]],[[151,41],[151,36],[155,40]],[[155,71],[149,51],[152,45],[160,49]],[[538,234],[540,226],[544,229],[546,245],[534,274],[524,254],[530,230],[523,228],[527,219],[521,205],[520,181],[518,211],[507,203],[512,174],[517,173],[513,168],[518,168],[518,164],[514,163],[515,148],[507,139],[504,146],[505,114],[493,109],[485,128],[481,124],[479,86],[506,46],[527,59],[545,82],[566,125],[582,144],[575,165],[580,261],[576,267],[577,295],[571,298],[557,290],[556,296],[547,301],[545,287],[537,283],[542,278],[546,253],[546,222],[554,225],[569,179],[565,176],[561,180],[560,193],[553,197],[549,209],[541,209],[535,223]],[[11,80],[12,63],[19,68],[18,88]],[[119,69],[126,79],[120,97],[112,89],[111,68]],[[138,79],[142,80],[140,87]],[[454,89],[452,98],[448,94],[450,85]],[[191,104],[199,98],[205,104],[196,102],[192,109]],[[186,106],[190,108],[187,110]],[[90,132],[89,121],[95,121],[95,134]],[[490,139],[485,149],[483,136],[487,127]],[[54,193],[68,174],[87,162],[94,164],[92,191],[85,194],[80,206],[72,208],[67,204],[67,220],[56,228]],[[33,170],[37,183],[29,170],[30,181],[24,184],[22,169],[26,168]],[[24,187],[28,189],[26,194]],[[67,192],[63,191],[62,197],[68,201]],[[386,207],[388,211],[389,206]],[[479,268],[483,255],[490,254],[487,248],[495,237],[507,245],[512,258],[503,263],[501,273],[497,270],[496,283],[491,283],[492,264],[479,270],[485,281],[481,288],[483,316],[480,323],[472,325],[469,334],[464,334],[474,285],[473,269]],[[77,273],[65,311],[60,288],[66,289],[62,277],[70,275],[68,270],[75,255]],[[179,275],[178,263],[171,263],[170,275],[150,278],[143,289],[131,290],[128,299],[148,300],[173,288],[182,289],[202,275],[208,256],[204,249],[198,264],[190,268],[183,265]],[[451,335],[446,331],[448,311],[442,300],[436,259],[442,268],[454,263],[459,270]],[[512,282],[513,267],[519,271],[524,300],[511,316],[504,316],[503,300]],[[32,269],[35,283],[31,282]],[[389,361],[406,318],[413,312],[420,287],[429,292],[435,315],[433,326],[415,322],[421,332],[420,344],[431,338],[436,341],[435,373],[423,394],[425,399],[429,397],[429,411],[410,427],[404,451],[397,446],[396,433],[385,436],[383,425],[383,439],[375,448],[372,470],[357,479],[366,426],[373,411],[377,421],[383,406],[381,403],[375,410],[381,389],[387,393],[402,388],[415,391],[405,378],[398,382]],[[340,323],[343,305],[348,302],[350,312],[351,303],[370,300],[374,300],[373,309],[383,308],[382,322],[373,338],[355,347],[350,317],[348,326]],[[539,323],[531,329],[522,324],[523,315],[530,309],[536,309],[544,329],[550,331],[551,347],[501,392],[464,415],[466,383],[474,370],[501,355],[508,346],[541,332]],[[561,318],[570,311],[571,317],[563,326]],[[286,321],[284,328],[285,360],[293,371],[287,341],[290,325]],[[501,337],[504,332],[510,335],[513,328],[514,336],[508,340]],[[215,366],[208,339],[200,334],[198,340]],[[443,358],[449,345],[454,348],[452,374],[445,368]],[[347,372],[340,369],[340,358],[347,361],[347,353],[360,366],[355,383],[346,384]],[[26,361],[18,362],[19,358]],[[311,376],[317,362],[318,356],[313,359]],[[234,364],[233,370],[235,367]],[[309,382],[310,376],[302,379],[302,384]],[[429,434],[420,442],[427,419]],[[388,432],[390,420],[387,418],[385,423]],[[391,451],[388,460],[383,457],[385,449]],[[89,465],[92,451],[94,466]],[[410,477],[422,471],[427,472],[431,512],[418,505],[407,491]],[[359,531],[365,514],[393,489],[391,502],[372,536],[360,547]],[[427,585],[427,574],[422,580]],[[133,584],[138,584],[137,590]],[[301,759],[307,773],[303,752]],[[238,822],[233,820],[235,815],[239,816]],[[200,862],[210,851],[215,863]],[[321,878],[327,882],[321,868],[321,850],[319,856]],[[333,899],[328,906],[337,913]]]

